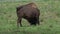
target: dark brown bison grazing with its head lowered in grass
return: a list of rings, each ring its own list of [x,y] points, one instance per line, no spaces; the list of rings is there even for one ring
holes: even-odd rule
[[[39,15],[40,11],[34,3],[29,3],[27,5],[17,7],[17,26],[22,26],[22,18],[26,19],[30,25],[39,25]]]

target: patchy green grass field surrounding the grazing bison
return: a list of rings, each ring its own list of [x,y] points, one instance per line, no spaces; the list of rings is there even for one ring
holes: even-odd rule
[[[23,27],[17,32],[16,7],[27,3],[30,2],[0,2],[0,34],[60,34],[59,0],[36,1],[41,13],[40,20],[43,20],[41,25],[30,26],[27,20],[23,19]]]

